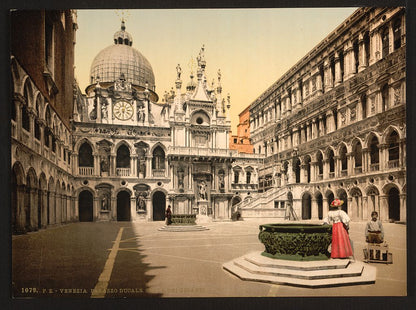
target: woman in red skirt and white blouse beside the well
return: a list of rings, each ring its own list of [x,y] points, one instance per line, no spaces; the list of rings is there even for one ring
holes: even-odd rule
[[[348,236],[350,218],[341,210],[344,201],[335,199],[330,206],[324,223],[332,224],[331,258],[346,258],[353,256],[350,238]]]

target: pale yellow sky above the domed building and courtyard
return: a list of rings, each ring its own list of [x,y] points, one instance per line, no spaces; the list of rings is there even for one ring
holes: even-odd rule
[[[231,128],[236,134],[238,114],[356,9],[78,10],[75,76],[84,92],[95,56],[114,44],[124,14],[132,47],[152,65],[159,102],[174,87],[178,64],[185,91],[191,59],[196,64],[205,46],[207,82],[217,81],[221,69],[223,96],[230,94]]]

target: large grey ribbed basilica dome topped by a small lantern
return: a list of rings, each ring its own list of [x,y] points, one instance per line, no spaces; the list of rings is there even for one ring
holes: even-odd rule
[[[150,62],[132,47],[131,35],[125,30],[124,21],[121,30],[114,34],[114,45],[103,49],[94,58],[91,65],[91,83],[114,82],[123,74],[126,82],[134,86],[155,90],[155,76]]]

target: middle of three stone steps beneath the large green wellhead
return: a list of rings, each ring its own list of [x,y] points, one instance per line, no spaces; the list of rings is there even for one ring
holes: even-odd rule
[[[356,262],[348,264],[348,266],[343,269],[320,269],[305,271],[300,269],[279,268],[278,266],[260,267],[245,260],[244,258],[235,259],[234,264],[250,273],[306,280],[359,277],[364,268],[363,264]]]

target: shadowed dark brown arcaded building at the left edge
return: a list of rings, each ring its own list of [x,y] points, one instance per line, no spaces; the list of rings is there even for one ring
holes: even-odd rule
[[[11,13],[12,231],[78,218],[72,175],[76,12]]]

